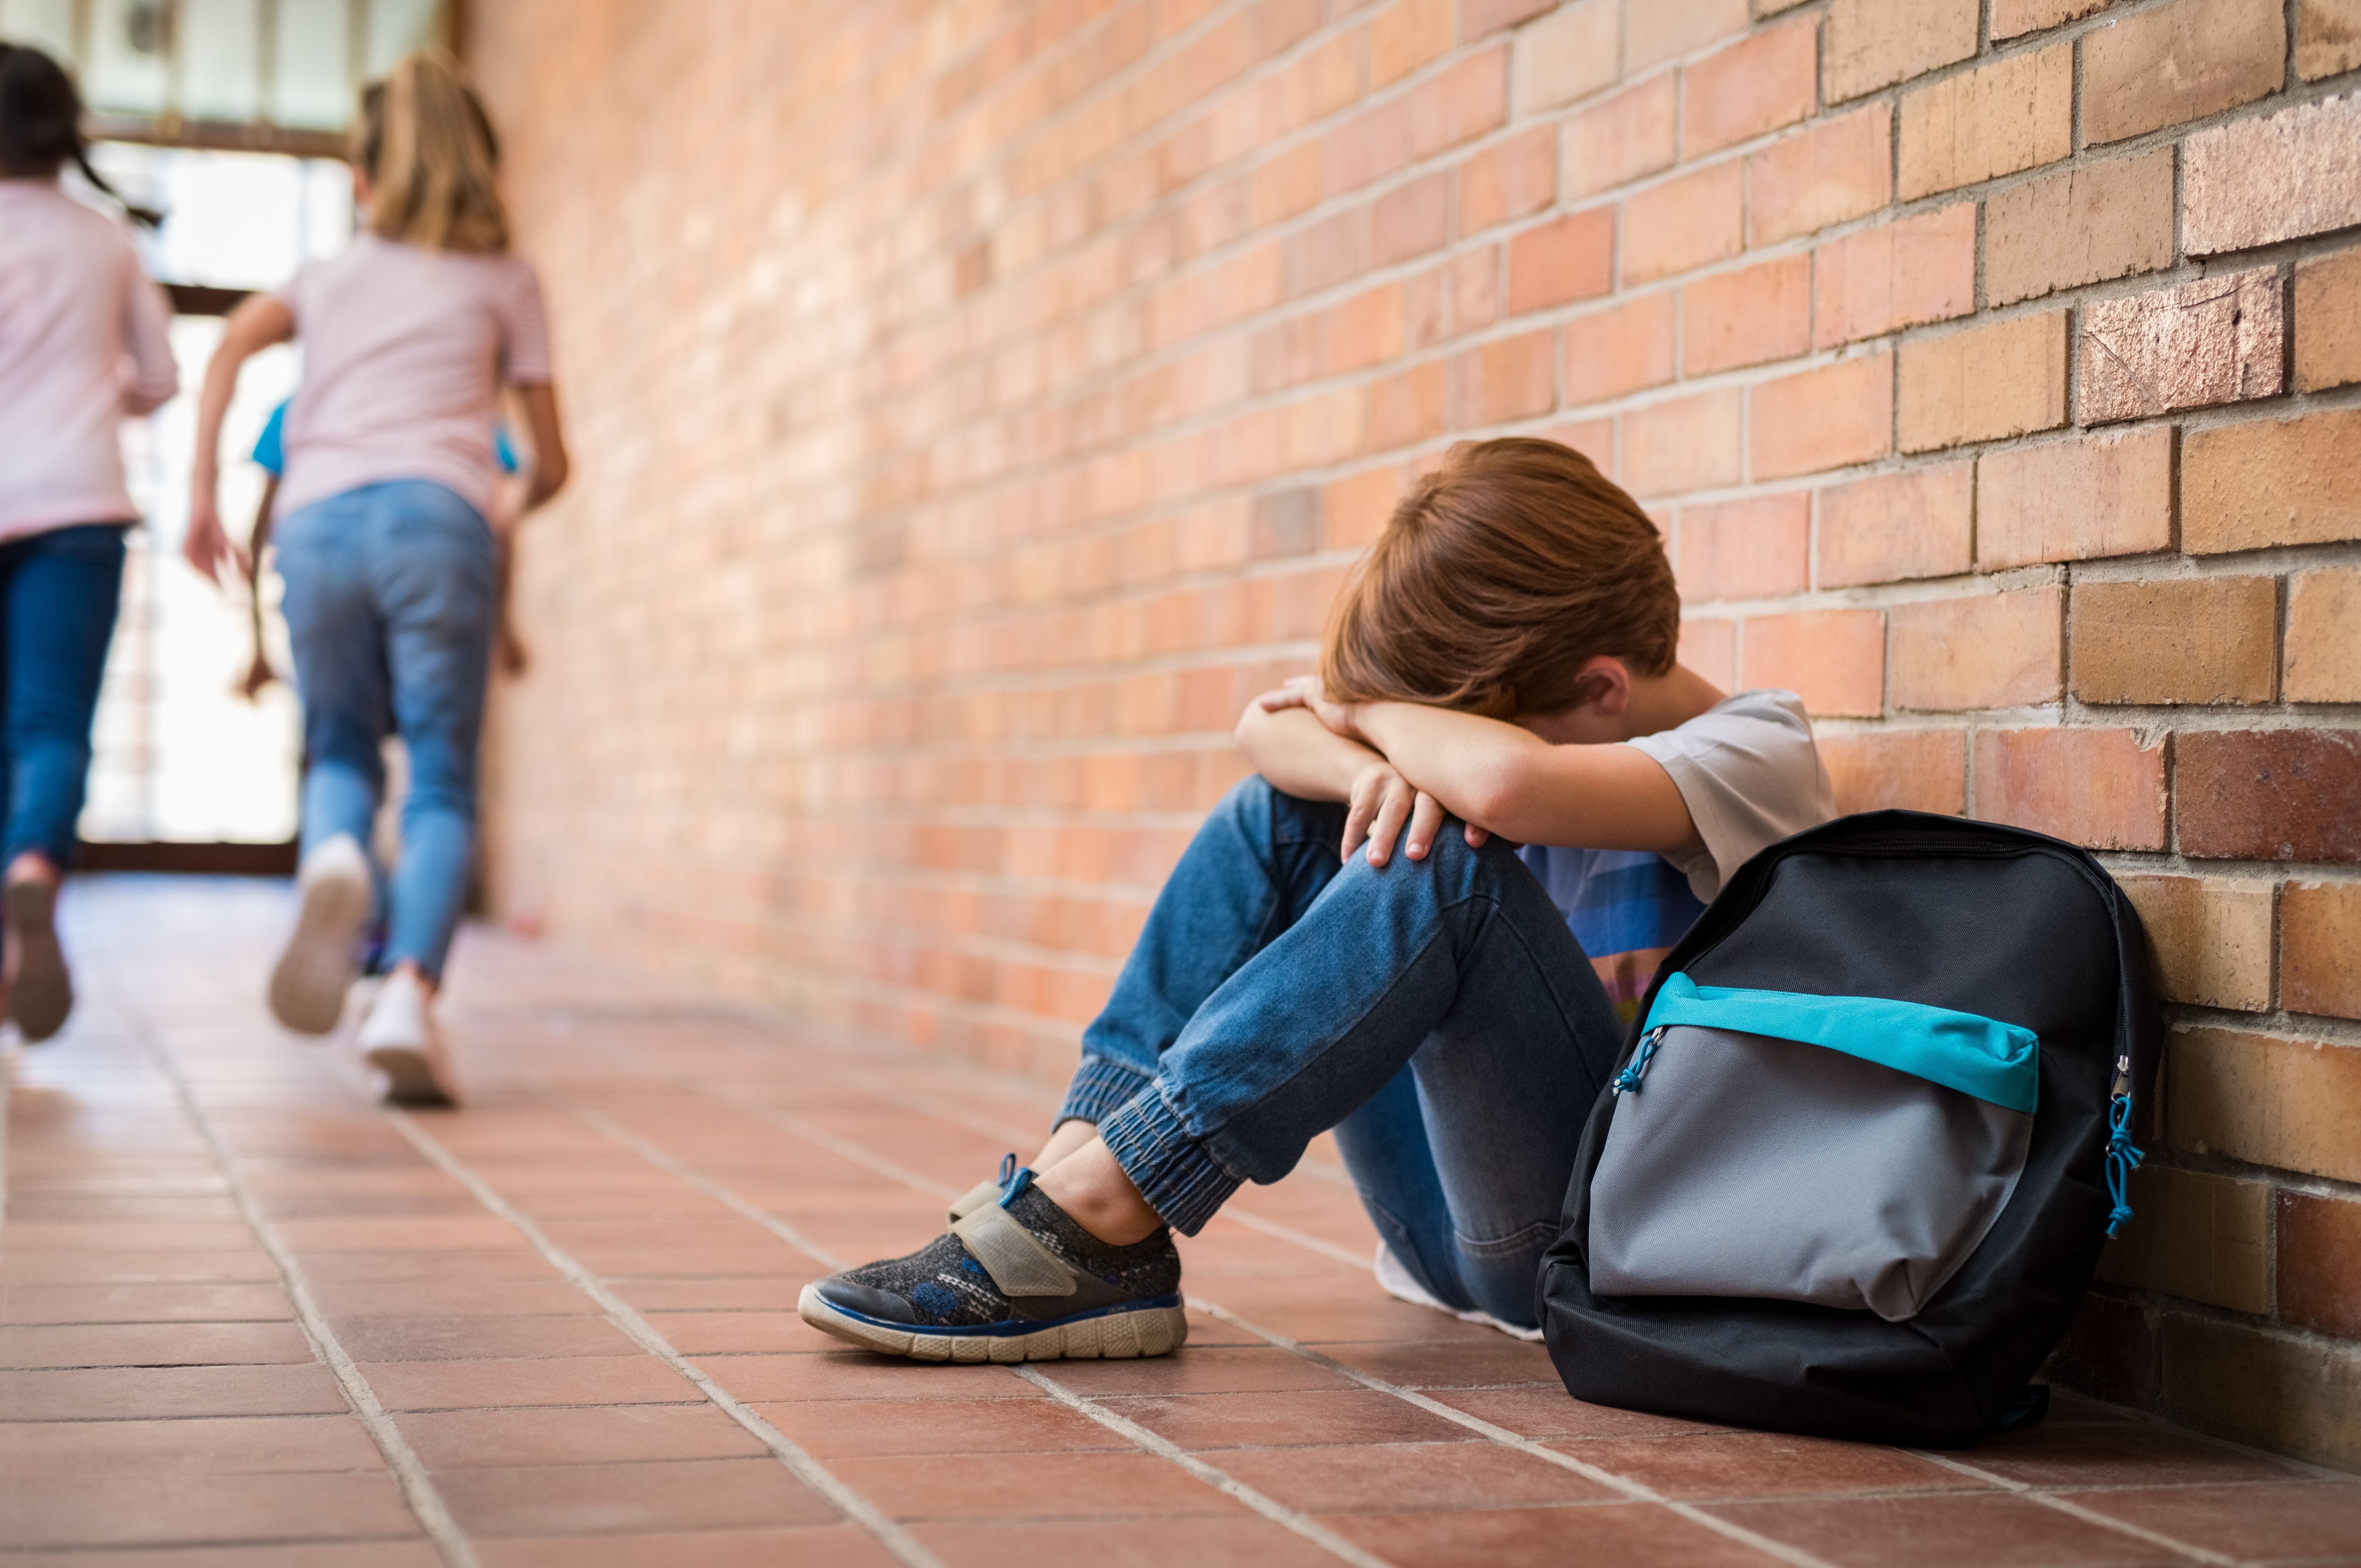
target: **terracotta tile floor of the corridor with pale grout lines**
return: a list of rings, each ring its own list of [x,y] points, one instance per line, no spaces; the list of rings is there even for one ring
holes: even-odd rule
[[[1577,1405],[1381,1296],[1332,1152],[1190,1242],[1190,1346],[914,1367],[798,1285],[1051,1096],[470,933],[475,1100],[262,1015],[269,883],[90,878],[7,1063],[5,1563],[2361,1563],[2361,1481],[2061,1398],[1962,1455]]]

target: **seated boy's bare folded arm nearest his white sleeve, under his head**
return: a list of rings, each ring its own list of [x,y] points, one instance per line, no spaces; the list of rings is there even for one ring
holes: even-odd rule
[[[1554,746],[1497,718],[1410,701],[1362,704],[1353,720],[1405,779],[1502,838],[1657,855],[1700,843],[1672,775],[1639,746]]]

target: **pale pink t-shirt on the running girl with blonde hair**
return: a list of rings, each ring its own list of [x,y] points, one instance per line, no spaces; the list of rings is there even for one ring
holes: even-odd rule
[[[550,380],[531,264],[361,234],[279,300],[295,314],[302,390],[276,515],[382,479],[434,479],[489,512],[501,385]]]

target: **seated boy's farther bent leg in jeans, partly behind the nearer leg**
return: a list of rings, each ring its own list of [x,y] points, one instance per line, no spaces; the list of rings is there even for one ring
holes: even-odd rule
[[[1339,871],[1343,805],[1242,779],[1164,881],[1114,994],[1081,1034],[1058,1122],[1100,1122],[1136,1096],[1223,980],[1294,926]]]

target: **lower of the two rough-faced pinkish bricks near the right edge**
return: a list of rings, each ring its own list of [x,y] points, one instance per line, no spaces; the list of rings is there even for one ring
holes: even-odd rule
[[[2285,383],[2278,269],[2082,307],[2082,423],[2274,397]]]

